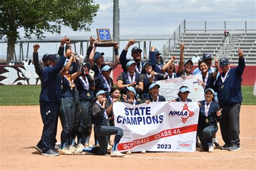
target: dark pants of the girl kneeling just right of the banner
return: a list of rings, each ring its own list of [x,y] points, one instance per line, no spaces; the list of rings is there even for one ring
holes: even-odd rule
[[[197,134],[204,151],[208,151],[208,146],[212,146],[212,138],[218,131],[217,125],[198,125]]]

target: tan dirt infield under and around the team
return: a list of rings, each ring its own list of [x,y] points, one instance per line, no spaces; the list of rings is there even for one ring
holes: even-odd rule
[[[213,153],[197,149],[194,153],[133,153],[125,158],[111,158],[109,155],[44,157],[33,148],[40,139],[43,128],[39,106],[1,106],[0,169],[255,169],[255,110],[255,105],[241,107],[242,150],[236,152],[217,148]],[[61,129],[59,122],[58,141]],[[220,131],[217,132],[217,137],[223,145]]]

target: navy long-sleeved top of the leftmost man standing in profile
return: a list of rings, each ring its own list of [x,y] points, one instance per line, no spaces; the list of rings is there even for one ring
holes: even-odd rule
[[[62,56],[54,67],[46,67],[42,72],[42,88],[39,102],[60,103],[62,96],[60,70],[64,65],[66,58]]]

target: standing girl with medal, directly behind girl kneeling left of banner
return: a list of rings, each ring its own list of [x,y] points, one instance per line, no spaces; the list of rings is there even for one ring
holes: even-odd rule
[[[81,109],[77,140],[78,144],[83,144],[82,142],[85,142],[85,147],[89,147],[89,140],[92,131],[92,102],[95,99],[93,94],[93,90],[95,90],[94,72],[93,70],[90,70],[89,73],[90,67],[91,65],[89,62],[84,63],[82,75],[77,77]],[[82,138],[85,138],[85,140],[82,140]]]

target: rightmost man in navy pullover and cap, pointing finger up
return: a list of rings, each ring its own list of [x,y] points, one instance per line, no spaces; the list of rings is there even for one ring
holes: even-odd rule
[[[242,103],[241,81],[242,72],[245,68],[245,59],[242,50],[238,49],[238,66],[230,68],[227,58],[220,59],[220,68],[223,71],[215,83],[218,92],[220,108],[223,108],[220,118],[221,136],[225,142],[221,149],[238,151],[239,139],[239,114]]]

